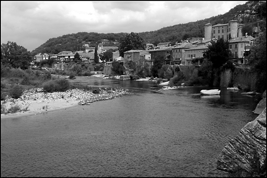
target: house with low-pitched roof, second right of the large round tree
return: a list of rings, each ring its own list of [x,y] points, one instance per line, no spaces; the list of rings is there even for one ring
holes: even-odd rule
[[[150,50],[151,60],[154,62],[157,56],[160,56],[165,59],[165,64],[170,64],[170,55],[172,47],[161,47],[160,49]]]

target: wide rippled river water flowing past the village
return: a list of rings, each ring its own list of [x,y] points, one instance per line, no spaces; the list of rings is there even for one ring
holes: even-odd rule
[[[252,97],[208,87],[78,76],[71,82],[133,94],[1,119],[1,177],[227,177],[219,153],[257,114]]]

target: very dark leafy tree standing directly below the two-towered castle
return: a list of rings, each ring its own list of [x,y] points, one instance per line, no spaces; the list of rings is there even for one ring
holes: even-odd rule
[[[231,51],[229,50],[229,41],[219,38],[212,41],[204,52],[206,58],[213,63],[214,68],[219,68],[229,60]]]

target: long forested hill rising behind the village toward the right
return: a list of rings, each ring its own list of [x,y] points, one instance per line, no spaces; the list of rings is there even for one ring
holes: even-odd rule
[[[163,27],[160,30],[142,32],[139,33],[139,35],[146,43],[152,43],[154,45],[167,41],[175,43],[175,41],[181,41],[182,39],[186,39],[188,37],[204,37],[204,25],[207,23],[211,23],[213,25],[226,24],[229,20],[235,19],[238,20],[238,23],[244,24],[245,26],[256,27],[257,21],[259,20],[257,18],[258,13],[262,13],[262,16],[266,17],[266,1],[248,1],[245,4],[235,6],[223,15],[213,16],[196,22]],[[84,44],[90,44],[90,47],[96,47],[103,39],[110,41],[110,43],[106,43],[104,46],[114,46],[118,45],[114,44],[114,42],[118,41],[120,36],[123,36],[124,34],[126,33],[99,34],[94,32],[79,32],[76,34],[67,34],[50,38],[47,42],[33,50],[32,54],[57,54],[63,50],[85,50],[85,48],[82,48]]]

